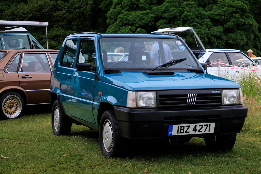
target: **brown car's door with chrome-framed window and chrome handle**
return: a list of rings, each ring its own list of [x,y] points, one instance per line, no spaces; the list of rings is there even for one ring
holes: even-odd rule
[[[51,66],[46,52],[23,53],[18,76],[20,86],[28,93],[28,104],[50,103],[47,91],[50,88]]]

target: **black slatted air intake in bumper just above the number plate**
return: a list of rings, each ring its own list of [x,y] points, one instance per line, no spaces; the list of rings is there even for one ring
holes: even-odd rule
[[[164,124],[213,123],[218,122],[219,118],[219,115],[164,117]]]

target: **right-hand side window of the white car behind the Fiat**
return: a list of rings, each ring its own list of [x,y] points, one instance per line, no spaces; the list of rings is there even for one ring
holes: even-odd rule
[[[246,67],[247,65],[251,64],[252,61],[247,58],[244,54],[239,52],[228,52],[228,56],[232,62],[232,65],[238,67]]]

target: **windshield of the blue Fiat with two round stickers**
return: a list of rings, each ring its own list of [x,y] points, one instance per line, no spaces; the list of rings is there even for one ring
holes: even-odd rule
[[[184,59],[159,69],[194,69],[197,62],[180,39],[107,38],[101,39],[103,65],[112,69],[154,69],[169,61]],[[113,53],[121,53],[111,59]]]

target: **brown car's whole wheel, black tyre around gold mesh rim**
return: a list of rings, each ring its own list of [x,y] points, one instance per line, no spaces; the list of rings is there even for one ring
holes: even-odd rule
[[[3,119],[15,119],[21,117],[25,107],[23,98],[16,92],[7,92],[0,98],[1,117]]]

